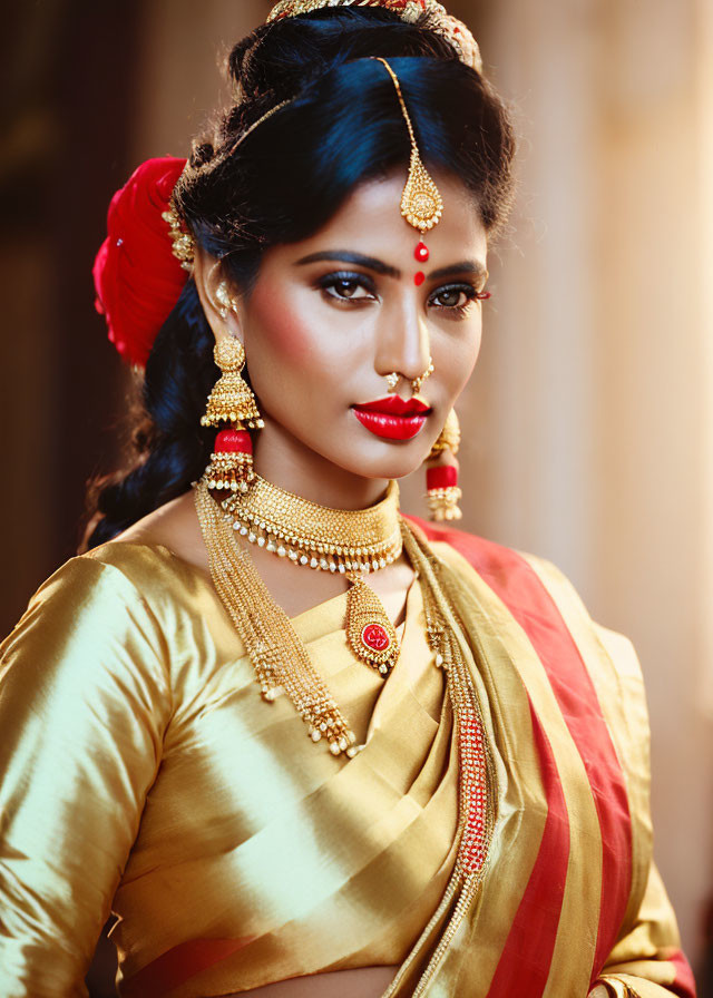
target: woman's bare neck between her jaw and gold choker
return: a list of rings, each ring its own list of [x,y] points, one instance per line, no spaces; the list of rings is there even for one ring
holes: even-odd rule
[[[255,471],[267,481],[332,509],[367,509],[383,499],[385,478],[363,478],[311,450],[273,422],[255,439]]]

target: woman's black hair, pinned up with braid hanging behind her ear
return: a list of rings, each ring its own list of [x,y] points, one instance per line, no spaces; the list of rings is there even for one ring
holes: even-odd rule
[[[506,109],[487,80],[429,29],[429,17],[412,25],[379,8],[325,8],[262,26],[235,46],[228,70],[238,99],[214,137],[194,145],[174,200],[244,294],[267,248],[312,235],[356,184],[408,164],[394,86],[374,56],[389,59],[399,77],[426,165],[457,175],[487,232],[500,228],[515,147]],[[199,428],[217,373],[213,344],[189,280],[146,365],[134,467],[95,487],[90,547],[201,477],[213,440]]]

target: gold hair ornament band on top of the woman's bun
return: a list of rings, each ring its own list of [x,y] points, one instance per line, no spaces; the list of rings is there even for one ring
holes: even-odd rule
[[[381,7],[391,10],[402,21],[417,23],[424,13],[428,14],[426,26],[440,35],[456,50],[458,58],[477,72],[482,72],[482,59],[478,42],[470,29],[449,14],[437,0],[282,0],[267,16],[267,23],[282,18],[294,18],[301,13],[311,13],[323,7]]]

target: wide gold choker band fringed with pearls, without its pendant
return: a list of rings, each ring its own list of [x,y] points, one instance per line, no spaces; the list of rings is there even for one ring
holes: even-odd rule
[[[402,548],[399,486],[368,509],[330,509],[255,476],[246,491],[222,501],[241,537],[295,565],[322,571],[370,573],[392,565]]]

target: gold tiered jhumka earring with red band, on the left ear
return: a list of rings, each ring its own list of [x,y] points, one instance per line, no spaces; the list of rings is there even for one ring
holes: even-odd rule
[[[234,303],[225,282],[218,285],[216,297],[222,305],[221,315],[226,317]],[[264,422],[255,395],[241,376],[245,366],[245,350],[240,340],[229,333],[221,336],[215,344],[213,359],[221,376],[208,395],[201,425],[215,427],[218,433],[204,478],[211,489],[245,491],[255,477],[253,442],[247,430],[262,429]]]

